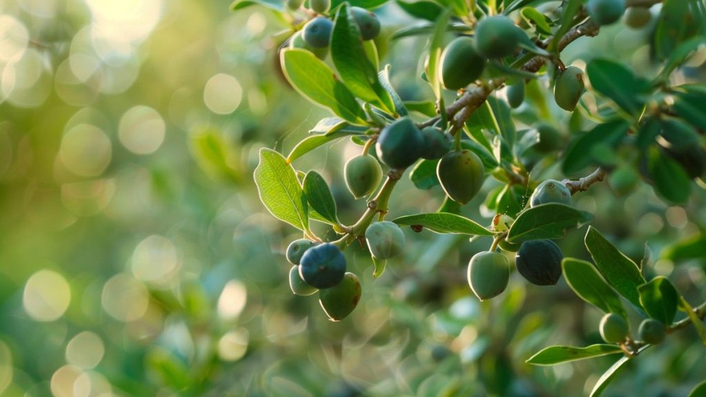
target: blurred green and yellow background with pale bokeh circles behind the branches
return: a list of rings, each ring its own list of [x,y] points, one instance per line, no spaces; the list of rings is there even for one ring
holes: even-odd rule
[[[465,268],[489,239],[405,230],[404,256],[374,281],[369,256],[348,249],[364,292],[340,323],[326,319],[316,296],[292,295],[284,251],[301,235],[267,213],[252,172],[259,148],[287,153],[327,114],[277,69],[287,21],[265,8],[228,6],[0,2],[0,395],[590,391],[611,358],[557,367],[524,361],[546,345],[599,342],[601,314],[563,280],[540,288],[517,274],[501,297],[480,304]],[[394,4],[376,13],[385,35],[412,23]],[[649,28],[622,29],[579,40],[568,59],[580,64],[600,48],[650,73]],[[418,78],[421,58],[410,56],[425,42],[378,43],[405,100],[431,97]],[[550,110],[568,131],[566,115]],[[344,223],[365,205],[342,179],[343,159],[358,151],[338,141],[294,164],[324,175]],[[545,176],[563,177],[557,172],[548,167]],[[435,211],[441,196],[405,177],[392,208]],[[465,215],[489,225],[481,196]],[[703,195],[670,207],[644,184],[617,198],[600,184],[578,206],[636,261],[650,242],[647,272],[668,275],[693,304],[706,297],[704,261],[659,259],[666,244],[706,225]],[[563,240],[565,256],[587,258],[583,232]],[[693,330],[680,331],[605,394],[686,395],[704,376],[698,346]]]

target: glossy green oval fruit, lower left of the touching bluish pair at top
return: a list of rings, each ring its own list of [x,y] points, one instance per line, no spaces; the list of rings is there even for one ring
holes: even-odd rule
[[[441,54],[441,84],[448,90],[464,88],[481,76],[485,64],[471,37],[456,37]]]

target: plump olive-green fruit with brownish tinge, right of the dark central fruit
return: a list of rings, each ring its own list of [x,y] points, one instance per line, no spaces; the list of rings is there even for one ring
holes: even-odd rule
[[[465,204],[478,194],[485,180],[481,159],[468,149],[447,153],[436,166],[443,191],[455,202]]]

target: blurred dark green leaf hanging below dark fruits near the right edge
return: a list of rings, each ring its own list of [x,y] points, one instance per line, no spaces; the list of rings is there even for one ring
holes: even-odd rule
[[[669,155],[657,148],[647,152],[647,168],[654,181],[654,190],[673,203],[686,203],[691,194],[691,179]]]

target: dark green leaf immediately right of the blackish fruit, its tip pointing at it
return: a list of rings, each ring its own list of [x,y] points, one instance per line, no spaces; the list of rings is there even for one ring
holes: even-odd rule
[[[620,297],[606,284],[591,263],[564,258],[561,267],[566,283],[582,300],[601,309],[604,313],[616,313],[627,318],[628,314],[620,302]]]

